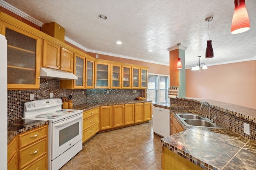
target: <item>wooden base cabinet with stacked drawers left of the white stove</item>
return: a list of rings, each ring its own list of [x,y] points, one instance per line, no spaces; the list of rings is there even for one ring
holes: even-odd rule
[[[48,125],[21,133],[8,144],[8,170],[47,170]]]

